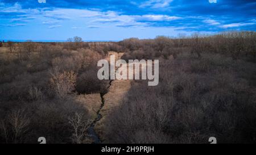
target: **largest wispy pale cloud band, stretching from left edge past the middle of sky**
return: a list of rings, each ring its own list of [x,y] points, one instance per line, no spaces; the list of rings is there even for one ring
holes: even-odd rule
[[[153,4],[154,2],[154,4]],[[167,1],[161,1],[166,3]],[[168,1],[171,2],[171,1]],[[150,1],[152,5],[160,3],[160,1]],[[0,12],[22,12],[22,14],[14,15],[10,22],[30,22],[31,19],[38,20],[42,24],[49,24],[48,28],[60,27],[64,20],[70,20],[69,23],[79,27],[101,27],[118,26],[118,27],[149,27],[148,22],[161,22],[181,19],[179,16],[170,15],[122,15],[121,12],[115,11],[100,11],[88,9],[62,9],[62,8],[40,8],[40,9],[22,9],[19,3],[13,6],[0,6]],[[83,25],[81,23],[84,23]],[[75,27],[74,27],[75,28]]]

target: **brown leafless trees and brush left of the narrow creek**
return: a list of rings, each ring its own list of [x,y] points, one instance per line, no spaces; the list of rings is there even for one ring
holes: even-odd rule
[[[79,39],[75,43],[83,44]],[[92,107],[76,98],[89,93],[89,88],[76,89],[97,80],[97,74],[80,78],[91,66],[97,70],[95,64],[103,55],[78,44],[74,47],[32,41],[13,43],[12,52],[1,47],[0,143],[37,143],[41,136],[47,143],[88,143],[85,122],[93,120],[96,112],[88,112]],[[103,84],[94,92],[100,93]],[[74,125],[79,129],[75,131]]]

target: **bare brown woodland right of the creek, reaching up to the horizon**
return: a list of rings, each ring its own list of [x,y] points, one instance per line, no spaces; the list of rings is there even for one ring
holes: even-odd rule
[[[160,59],[160,81],[135,82],[109,116],[107,142],[208,143],[214,136],[218,143],[255,143],[255,36],[124,40],[130,52],[123,58]]]

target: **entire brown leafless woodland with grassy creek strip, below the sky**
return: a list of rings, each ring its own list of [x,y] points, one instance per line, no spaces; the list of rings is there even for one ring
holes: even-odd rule
[[[256,32],[0,44],[0,143],[256,142]],[[159,85],[97,78],[159,60]]]

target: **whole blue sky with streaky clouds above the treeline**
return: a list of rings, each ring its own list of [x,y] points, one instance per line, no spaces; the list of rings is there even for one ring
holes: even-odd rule
[[[250,0],[0,0],[0,39],[141,39],[256,30]]]

